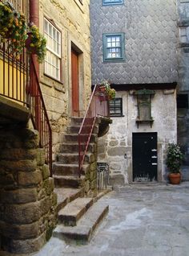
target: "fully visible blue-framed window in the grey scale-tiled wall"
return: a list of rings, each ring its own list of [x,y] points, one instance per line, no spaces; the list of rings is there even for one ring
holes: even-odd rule
[[[103,34],[103,61],[123,61],[124,34]]]

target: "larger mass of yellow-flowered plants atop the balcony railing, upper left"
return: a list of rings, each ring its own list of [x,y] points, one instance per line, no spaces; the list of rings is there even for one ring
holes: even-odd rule
[[[2,42],[10,39],[8,47],[15,56],[22,52],[27,38],[26,18],[24,14],[15,11],[9,2],[0,2],[0,35]]]

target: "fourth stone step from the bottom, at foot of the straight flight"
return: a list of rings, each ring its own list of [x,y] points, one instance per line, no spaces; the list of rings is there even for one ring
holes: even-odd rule
[[[56,188],[82,188],[84,187],[85,176],[53,175]]]

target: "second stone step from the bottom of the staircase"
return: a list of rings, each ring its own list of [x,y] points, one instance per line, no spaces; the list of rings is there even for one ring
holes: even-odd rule
[[[77,198],[67,204],[58,213],[58,222],[66,226],[74,226],[77,221],[86,213],[87,209],[93,204],[92,198]]]

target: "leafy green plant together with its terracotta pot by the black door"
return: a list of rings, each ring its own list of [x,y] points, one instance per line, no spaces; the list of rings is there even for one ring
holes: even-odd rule
[[[167,147],[167,167],[169,169],[169,180],[171,184],[179,184],[181,180],[180,166],[183,161],[183,153],[179,145],[169,143]]]

